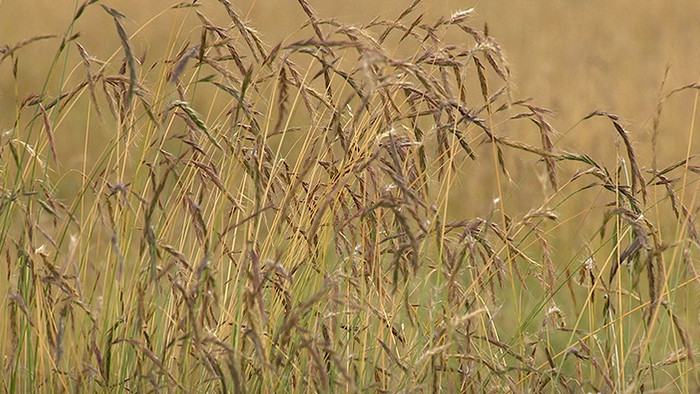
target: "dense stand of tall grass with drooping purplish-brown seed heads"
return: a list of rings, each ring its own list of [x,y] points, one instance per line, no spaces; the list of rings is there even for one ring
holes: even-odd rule
[[[56,43],[0,136],[4,391],[700,387],[696,157],[645,162],[605,111],[579,127],[614,157],[559,147],[472,10],[349,26],[299,0],[306,38],[269,46],[195,1],[159,16],[192,41],[145,55],[96,3],[0,47],[17,79]],[[652,151],[698,87],[661,87]]]

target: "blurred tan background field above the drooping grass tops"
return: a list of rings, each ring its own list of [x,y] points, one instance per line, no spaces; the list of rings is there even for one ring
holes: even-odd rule
[[[155,60],[162,56],[172,58],[185,43],[195,44],[199,40],[196,16],[168,10],[169,5],[177,2],[104,4],[127,15],[125,26],[134,35],[134,52],[136,56],[145,56],[151,64],[156,64]],[[409,4],[409,1],[358,0],[320,1],[313,6],[321,18],[360,26],[374,19],[395,18]],[[236,6],[269,45],[305,37],[299,34],[299,29],[305,23],[306,15],[294,1],[245,1]],[[559,148],[595,150],[601,153],[601,157],[614,158],[619,146],[615,146],[606,122],[578,123],[595,110],[605,110],[623,119],[637,144],[640,160],[651,162],[652,121],[667,67],[667,92],[697,82],[700,77],[700,56],[697,55],[700,41],[695,38],[700,35],[700,24],[696,23],[700,3],[696,1],[640,4],[630,0],[496,0],[474,3],[440,0],[430,5],[421,4],[416,14],[424,14],[424,20],[433,20],[472,7],[475,9],[475,16],[470,19],[472,25],[479,28],[488,25],[491,36],[498,40],[508,56],[513,73],[512,96],[530,97],[534,104],[554,111],[551,124],[559,132],[556,141]],[[74,8],[74,2],[67,0],[5,0],[0,13],[0,42],[10,45],[36,35],[61,34]],[[227,15],[219,4],[204,2],[200,10],[215,23],[225,24]],[[88,53],[98,59],[119,54],[120,42],[112,28],[111,17],[98,8],[89,8],[86,12],[87,17],[78,21],[75,31],[80,32],[80,42]],[[50,66],[47,56],[52,53],[57,40],[34,43],[18,54],[17,85],[9,77],[0,80],[0,105],[3,108],[11,108],[13,103],[23,99],[15,95],[16,90],[24,93],[41,91]],[[70,63],[72,70],[69,71],[77,80],[83,73],[78,68],[80,58],[77,51],[71,56],[74,61]],[[11,68],[9,61],[0,65],[5,76],[11,73]],[[58,83],[57,78],[54,75],[54,84]],[[700,139],[688,139],[692,108],[693,99],[689,93],[676,95],[665,105],[658,155],[685,154],[687,141],[692,144],[690,151],[700,151]],[[66,121],[72,120],[82,122],[76,118]],[[12,117],[3,117],[0,129],[9,129],[12,122]],[[84,128],[80,124],[64,130]],[[101,126],[97,125],[97,128]],[[82,130],[76,132],[83,133]],[[523,132],[512,130],[508,125],[505,132],[525,138]],[[95,146],[99,146],[103,142],[100,133],[93,134]],[[61,156],[73,157],[72,165],[77,166],[82,160],[71,152],[75,145],[61,143],[73,136],[70,131],[62,131],[61,137],[57,143],[59,151],[65,153]],[[611,165],[613,161],[605,163]],[[664,164],[670,163],[659,163]],[[531,169],[532,163],[523,165],[524,173],[531,172]],[[478,184],[483,185],[482,181],[479,180]],[[456,194],[461,192],[459,184],[455,191]],[[483,197],[495,197],[494,194],[492,188]],[[487,205],[480,208],[486,209]]]

